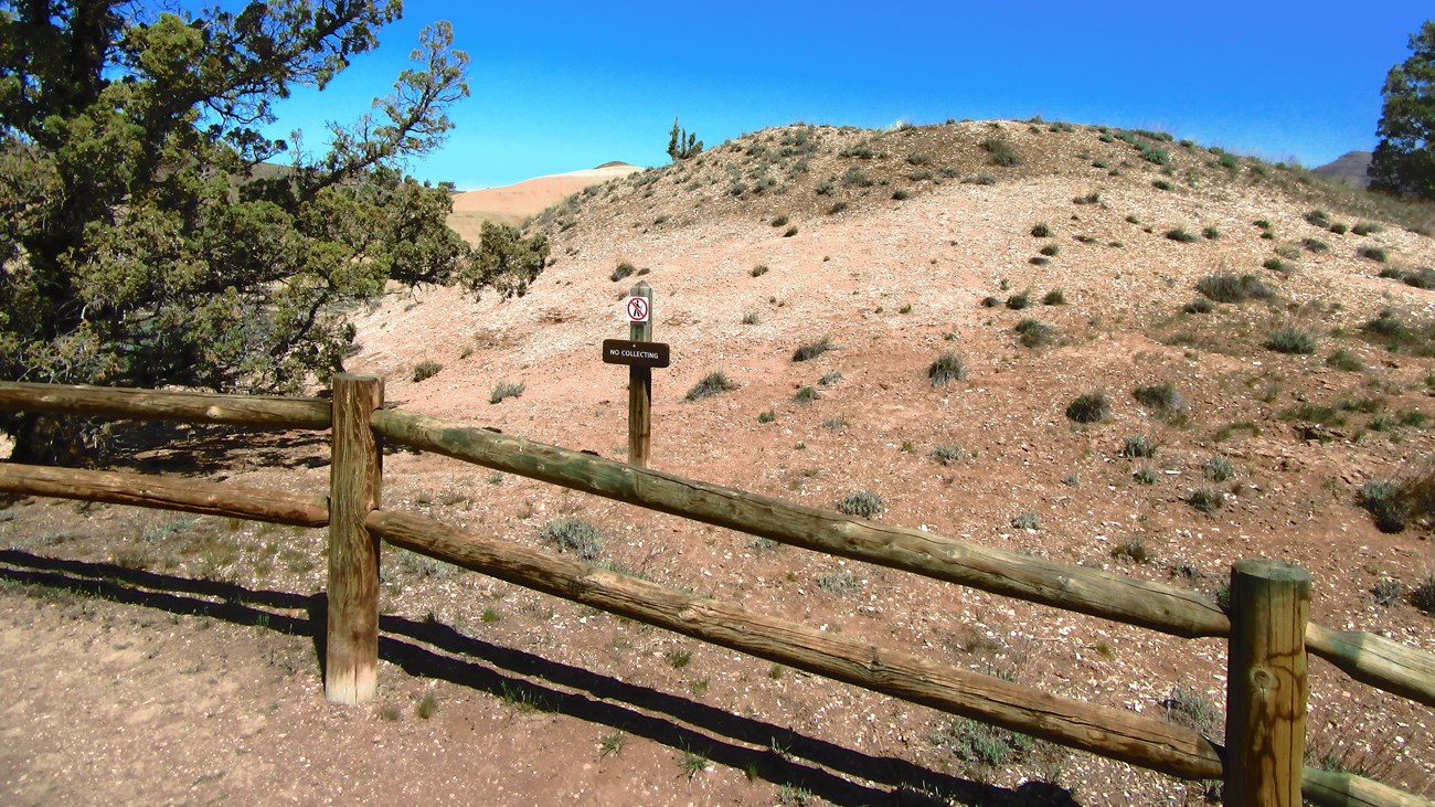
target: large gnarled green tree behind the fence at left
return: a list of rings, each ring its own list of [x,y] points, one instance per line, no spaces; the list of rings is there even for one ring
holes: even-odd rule
[[[323,89],[399,13],[316,4],[4,4],[0,378],[294,392],[342,368],[346,310],[387,281],[494,279],[446,227],[449,194],[397,169],[468,95],[446,23],[326,149],[261,134],[276,99]],[[76,460],[96,437],[33,415],[0,429],[17,460]]]

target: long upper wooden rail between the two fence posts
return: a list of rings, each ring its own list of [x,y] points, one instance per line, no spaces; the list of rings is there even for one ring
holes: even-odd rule
[[[1174,586],[847,517],[403,409],[375,412],[373,425],[412,448],[996,594],[1184,638],[1224,636],[1231,629],[1220,606]]]

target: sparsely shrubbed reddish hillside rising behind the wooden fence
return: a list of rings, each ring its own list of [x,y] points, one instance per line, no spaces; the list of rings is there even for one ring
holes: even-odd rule
[[[1157,134],[789,126],[550,210],[535,227],[557,260],[525,299],[393,300],[363,322],[352,366],[385,373],[390,395],[419,411],[621,458],[626,373],[600,363],[598,343],[626,335],[618,300],[639,277],[613,274],[630,263],[656,290],[654,339],[673,349],[654,378],[656,468],[819,507],[871,490],[895,523],[1213,594],[1236,559],[1279,557],[1314,574],[1316,619],[1435,649],[1429,617],[1369,594],[1435,569],[1428,531],[1380,533],[1359,505],[1366,482],[1429,468],[1428,335],[1392,350],[1362,332],[1385,309],[1411,327],[1429,322],[1435,293],[1401,281],[1421,283],[1415,270],[1435,264],[1428,221],[1424,208]],[[1049,235],[1033,235],[1038,225]],[[1185,313],[1217,274],[1251,276],[1246,287],[1271,296]],[[1063,304],[1040,304],[1053,291]],[[1020,294],[1030,307],[1013,310]],[[1023,346],[1015,327],[1027,317],[1052,327],[1049,345]],[[1313,352],[1270,349],[1281,329],[1310,336]],[[824,337],[835,349],[794,362]],[[937,388],[928,368],[947,350],[966,379]],[[422,359],[443,370],[413,383]],[[713,370],[738,388],[684,401]],[[501,381],[525,389],[491,405]],[[1164,383],[1180,411],[1134,396]],[[1091,391],[1105,392],[1109,416],[1072,422],[1068,405]],[[1155,455],[1125,457],[1134,438]],[[488,524],[534,540],[564,500],[518,490],[532,507]],[[881,570],[862,573],[857,599],[792,599],[834,561],[773,560],[742,536],[666,518],[636,527],[630,508],[600,501],[583,513],[630,537],[616,561],[647,574],[917,646],[933,630],[960,633],[973,605],[990,602]],[[699,583],[719,567],[726,582]],[[1029,609],[990,607],[977,607],[977,625],[1007,642],[1056,629],[1017,616]],[[1082,625],[1085,639],[1043,646],[1042,672],[1023,679],[1062,691],[1111,681],[1114,702],[1154,706],[1174,678],[1220,699],[1218,666],[1190,666],[1177,650],[1093,658],[1082,642],[1125,632]],[[1322,675],[1317,691],[1349,689]],[[1380,702],[1339,721],[1373,737]],[[1329,708],[1317,704],[1312,725],[1335,719]],[[1435,747],[1418,742],[1418,767],[1435,770]]]

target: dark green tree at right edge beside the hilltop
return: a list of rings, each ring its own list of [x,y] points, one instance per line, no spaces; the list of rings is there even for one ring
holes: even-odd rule
[[[1411,34],[1411,57],[1385,76],[1370,190],[1435,200],[1435,22]]]

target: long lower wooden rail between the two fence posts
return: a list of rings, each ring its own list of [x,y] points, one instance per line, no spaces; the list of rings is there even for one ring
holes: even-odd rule
[[[393,546],[733,650],[1165,774],[1221,777],[1220,750],[1185,727],[926,662],[419,516],[376,510],[367,526]]]

